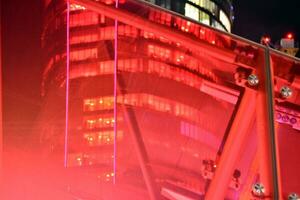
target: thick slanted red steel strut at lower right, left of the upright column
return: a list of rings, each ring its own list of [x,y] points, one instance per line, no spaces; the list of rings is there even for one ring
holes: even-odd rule
[[[206,200],[225,198],[238,156],[248,133],[250,133],[249,129],[254,123],[256,91],[245,88],[244,95],[240,98],[242,98],[240,106],[230,128],[219,163],[217,163],[214,178],[205,195]]]

